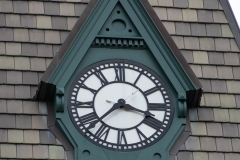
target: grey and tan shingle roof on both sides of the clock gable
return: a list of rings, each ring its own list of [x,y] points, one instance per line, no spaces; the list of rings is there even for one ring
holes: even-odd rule
[[[178,160],[240,158],[240,51],[219,0],[149,0],[203,85]],[[88,0],[0,1],[0,158],[66,159],[37,84]]]

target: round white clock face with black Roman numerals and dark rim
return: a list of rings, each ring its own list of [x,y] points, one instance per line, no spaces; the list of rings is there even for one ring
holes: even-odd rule
[[[156,73],[117,59],[95,63],[77,75],[69,90],[68,111],[83,137],[126,152],[159,141],[171,125],[174,107]]]

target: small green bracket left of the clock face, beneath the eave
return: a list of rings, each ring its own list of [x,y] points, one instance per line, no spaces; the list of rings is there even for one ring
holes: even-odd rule
[[[55,98],[56,112],[64,112],[64,89],[56,87]]]

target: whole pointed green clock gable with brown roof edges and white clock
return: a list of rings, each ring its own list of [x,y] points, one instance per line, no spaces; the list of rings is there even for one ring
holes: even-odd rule
[[[146,0],[91,0],[35,98],[72,159],[169,160],[201,93]]]

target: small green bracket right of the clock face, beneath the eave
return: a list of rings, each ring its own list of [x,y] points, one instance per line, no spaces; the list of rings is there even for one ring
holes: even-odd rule
[[[178,117],[186,118],[187,114],[187,102],[186,96],[184,93],[178,94]]]

